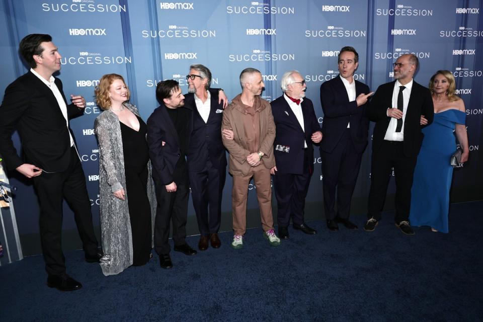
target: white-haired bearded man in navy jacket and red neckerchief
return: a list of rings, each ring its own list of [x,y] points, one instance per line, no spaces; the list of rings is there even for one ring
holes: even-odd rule
[[[273,155],[277,222],[280,238],[288,239],[290,217],[294,229],[306,234],[317,231],[304,221],[305,197],[313,173],[313,147],[320,142],[322,133],[312,101],[305,98],[305,81],[297,70],[283,74],[281,87],[284,94],[270,103],[275,122]]]

